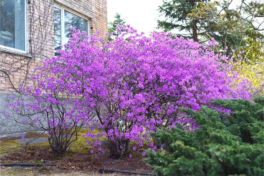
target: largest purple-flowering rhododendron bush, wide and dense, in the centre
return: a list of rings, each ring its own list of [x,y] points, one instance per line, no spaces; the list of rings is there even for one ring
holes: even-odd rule
[[[178,107],[200,110],[201,105],[211,106],[209,101],[214,98],[249,99],[247,86],[234,82],[239,75],[228,77],[232,57],[215,54],[214,40],[201,45],[193,40],[171,39],[165,32],[144,36],[130,26],[119,26],[120,36],[109,42],[108,36],[99,31],[88,37],[85,32],[72,30],[65,50],[58,50],[59,56],[46,59],[40,68],[56,75],[45,78],[43,87],[55,78],[56,94],[63,92],[81,102],[74,105],[77,121],[82,118],[91,130],[102,129],[100,134],[84,136],[97,140],[93,146],[100,147],[99,152],[100,137],[108,141],[114,157],[131,157],[130,150],[141,152],[144,141],[155,150],[149,131],[172,128],[176,122],[186,130],[199,128]],[[97,117],[86,118],[92,113]]]

